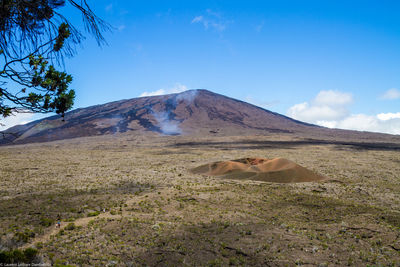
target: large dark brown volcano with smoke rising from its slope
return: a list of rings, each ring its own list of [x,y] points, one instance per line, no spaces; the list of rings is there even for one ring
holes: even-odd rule
[[[139,97],[80,108],[8,129],[3,144],[46,142],[83,136],[132,132],[160,135],[240,136],[294,134],[348,137],[360,132],[304,123],[207,90]],[[364,137],[382,137],[368,133]]]

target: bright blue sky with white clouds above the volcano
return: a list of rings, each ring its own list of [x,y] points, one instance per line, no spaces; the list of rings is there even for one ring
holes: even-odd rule
[[[66,60],[76,108],[205,88],[311,123],[400,134],[399,1],[88,2],[115,30]]]

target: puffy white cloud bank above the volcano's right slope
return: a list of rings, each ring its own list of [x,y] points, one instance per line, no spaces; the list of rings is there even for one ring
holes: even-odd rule
[[[328,128],[400,134],[400,112],[350,114],[353,97],[339,91],[321,91],[309,102],[293,105],[287,115]]]

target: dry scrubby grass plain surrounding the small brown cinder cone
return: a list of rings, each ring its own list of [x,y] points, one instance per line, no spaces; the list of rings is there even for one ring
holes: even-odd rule
[[[0,245],[86,266],[398,266],[400,153],[289,139],[123,135],[2,147]],[[287,158],[332,180],[188,171],[243,157]],[[54,231],[58,214],[74,227]]]

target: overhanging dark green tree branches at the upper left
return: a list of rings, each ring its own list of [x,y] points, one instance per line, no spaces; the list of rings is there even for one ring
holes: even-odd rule
[[[59,13],[71,6],[99,44],[108,25],[86,0],[0,0],[0,116],[17,112],[64,113],[72,108],[72,76],[56,67],[73,56],[84,36]]]

